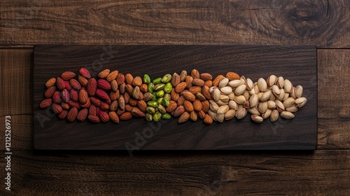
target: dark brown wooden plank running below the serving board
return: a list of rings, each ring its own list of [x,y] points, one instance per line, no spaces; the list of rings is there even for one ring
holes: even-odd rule
[[[17,152],[0,195],[348,195],[350,152]],[[3,162],[1,162],[3,167]],[[4,179],[1,178],[1,183]]]

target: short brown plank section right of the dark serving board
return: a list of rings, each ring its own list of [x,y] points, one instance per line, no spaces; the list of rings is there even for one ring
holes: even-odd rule
[[[318,148],[350,148],[350,50],[318,50]]]

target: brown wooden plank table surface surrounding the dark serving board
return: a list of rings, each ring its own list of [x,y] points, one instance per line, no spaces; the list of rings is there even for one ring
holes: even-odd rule
[[[0,2],[0,195],[349,195],[350,1]],[[316,45],[316,151],[33,151],[33,45]],[[313,84],[310,84],[313,85]],[[3,129],[1,129],[3,130]],[[3,131],[1,131],[3,132]]]

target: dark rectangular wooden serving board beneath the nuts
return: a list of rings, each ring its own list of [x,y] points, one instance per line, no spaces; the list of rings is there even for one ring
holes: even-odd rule
[[[92,124],[69,123],[40,109],[45,82],[63,71],[102,69],[152,78],[198,69],[213,76],[235,71],[251,78],[271,74],[304,87],[307,104],[293,120],[255,124],[226,120],[205,125],[177,118]],[[34,148],[45,150],[313,150],[317,137],[317,70],[314,46],[276,45],[36,45],[34,47]]]

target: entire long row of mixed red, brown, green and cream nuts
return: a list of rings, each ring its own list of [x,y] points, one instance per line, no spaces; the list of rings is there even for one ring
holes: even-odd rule
[[[251,113],[255,123],[266,118],[271,122],[279,116],[294,118],[294,112],[306,104],[302,86],[293,87],[290,80],[269,76],[257,82],[235,72],[213,76],[193,69],[190,74],[165,74],[151,80],[145,74],[119,73],[117,70],[101,71],[97,79],[81,68],[79,75],[65,71],[60,77],[50,78],[45,86],[42,109],[52,108],[59,119],[92,123],[119,123],[133,116],[159,121],[179,117],[178,122],[202,119],[204,123],[223,122]]]

